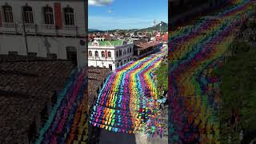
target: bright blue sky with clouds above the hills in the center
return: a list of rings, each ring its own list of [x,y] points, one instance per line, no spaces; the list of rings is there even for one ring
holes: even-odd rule
[[[140,29],[168,22],[168,0],[88,0],[89,29]]]

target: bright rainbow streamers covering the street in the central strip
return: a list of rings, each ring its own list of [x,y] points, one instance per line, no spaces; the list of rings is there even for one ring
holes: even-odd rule
[[[151,126],[151,134],[162,134],[162,123],[156,118],[158,91],[152,73],[162,62],[166,46],[138,61],[114,70],[106,79],[94,104],[90,123],[106,130],[134,134]]]

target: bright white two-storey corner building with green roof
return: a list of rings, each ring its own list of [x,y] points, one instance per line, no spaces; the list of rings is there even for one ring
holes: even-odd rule
[[[89,42],[88,66],[110,68],[115,70],[119,66],[132,61],[134,54],[133,42],[126,40]]]

